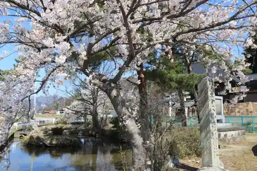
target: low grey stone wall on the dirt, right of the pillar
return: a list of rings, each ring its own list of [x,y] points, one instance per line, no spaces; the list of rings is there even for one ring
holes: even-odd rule
[[[238,142],[245,139],[245,130],[233,130],[226,132],[218,132],[218,141],[219,142]]]

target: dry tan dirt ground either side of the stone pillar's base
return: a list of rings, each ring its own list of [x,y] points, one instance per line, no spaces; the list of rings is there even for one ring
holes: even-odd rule
[[[226,169],[231,171],[257,171],[257,134],[247,133],[245,140],[237,143],[221,144],[224,148],[219,149],[219,158]],[[194,171],[201,167],[200,158],[188,158],[180,160],[188,165],[179,171]]]

